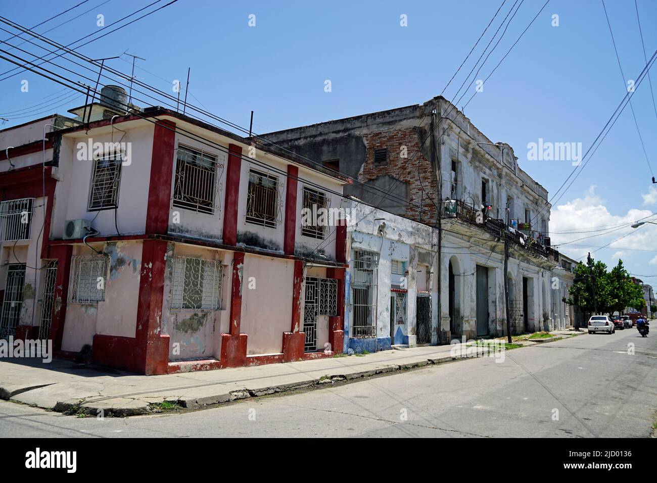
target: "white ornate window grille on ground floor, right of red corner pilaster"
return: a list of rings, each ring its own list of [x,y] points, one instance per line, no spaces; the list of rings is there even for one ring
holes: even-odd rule
[[[217,260],[173,259],[172,310],[210,311],[221,308],[223,267]]]

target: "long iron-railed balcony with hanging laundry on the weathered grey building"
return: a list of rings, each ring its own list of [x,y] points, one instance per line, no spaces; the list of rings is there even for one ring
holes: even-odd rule
[[[485,210],[476,210],[474,204],[461,200],[444,200],[442,202],[443,218],[456,218],[466,221],[494,237],[502,237],[507,230],[509,241],[526,250],[528,254],[539,255],[548,260],[559,261],[559,252],[545,244],[543,236],[531,229],[520,231],[507,225],[503,219],[491,218]]]

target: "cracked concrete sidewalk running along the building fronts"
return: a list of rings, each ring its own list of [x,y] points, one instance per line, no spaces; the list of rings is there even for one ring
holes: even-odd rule
[[[557,333],[563,336],[586,332]],[[196,409],[486,354],[485,350],[472,351],[472,348],[468,355],[454,354],[455,347],[464,352],[464,344],[424,346],[365,356],[158,376],[135,375],[60,359],[51,363],[42,363],[41,359],[4,359],[0,361],[0,398],[61,412],[82,409],[91,415],[96,415],[98,409],[104,415],[145,414],[150,411],[150,404],[164,401]]]

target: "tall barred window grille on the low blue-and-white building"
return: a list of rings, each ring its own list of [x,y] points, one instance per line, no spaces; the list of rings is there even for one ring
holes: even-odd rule
[[[351,275],[351,336],[376,336],[378,254],[353,251]]]

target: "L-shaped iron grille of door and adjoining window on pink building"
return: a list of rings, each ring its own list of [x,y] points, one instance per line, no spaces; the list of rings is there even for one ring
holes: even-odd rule
[[[338,281],[306,277],[304,333],[306,351],[317,350],[317,316],[338,315]]]

